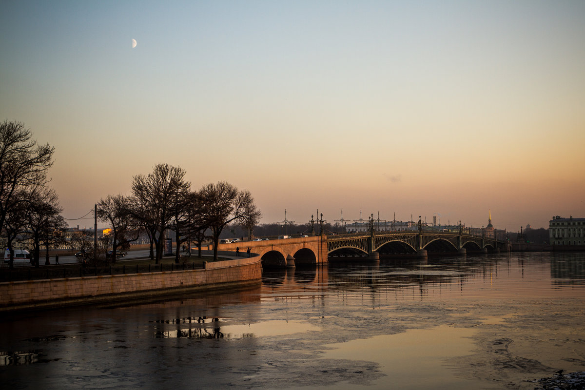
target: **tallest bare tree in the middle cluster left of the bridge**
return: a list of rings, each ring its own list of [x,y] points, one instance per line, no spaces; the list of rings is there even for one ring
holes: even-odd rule
[[[156,246],[156,264],[163,257],[164,231],[171,227],[177,194],[191,187],[184,176],[183,168],[158,164],[152,173],[136,175],[132,183],[132,215],[151,234]]]

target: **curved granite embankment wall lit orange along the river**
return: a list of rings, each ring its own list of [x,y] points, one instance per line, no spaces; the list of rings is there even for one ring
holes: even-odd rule
[[[0,312],[48,309],[223,289],[261,282],[259,256],[206,262],[202,270],[0,283]]]

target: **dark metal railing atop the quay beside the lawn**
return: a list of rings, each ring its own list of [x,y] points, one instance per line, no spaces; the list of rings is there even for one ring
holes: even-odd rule
[[[14,282],[23,280],[77,278],[98,275],[142,274],[146,272],[202,270],[204,264],[149,264],[149,265],[109,265],[107,267],[45,267],[45,268],[12,268],[0,270],[0,282]]]

